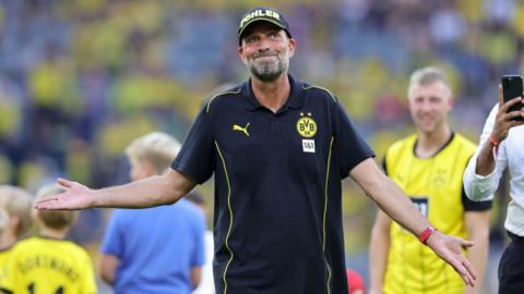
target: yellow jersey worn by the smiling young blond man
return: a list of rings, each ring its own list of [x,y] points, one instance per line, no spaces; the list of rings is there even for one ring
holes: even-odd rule
[[[385,154],[385,170],[437,230],[466,237],[462,175],[476,146],[458,134],[431,158],[415,156],[417,137],[393,144]],[[454,294],[464,282],[416,236],[392,221],[384,293]]]

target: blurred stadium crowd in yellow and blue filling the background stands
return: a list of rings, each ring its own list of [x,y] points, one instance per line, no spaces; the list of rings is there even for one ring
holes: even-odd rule
[[[0,4],[0,183],[34,191],[57,176],[92,187],[126,182],[121,155],[133,138],[158,130],[182,139],[213,89],[247,76],[236,52],[237,24],[246,9],[260,3]],[[457,94],[452,125],[474,142],[497,101],[500,76],[523,72],[522,1],[279,0],[264,5],[286,14],[297,39],[290,72],[333,90],[378,160],[385,146],[412,131],[405,90],[414,69],[436,65],[452,77]],[[346,185],[350,254],[366,247],[374,210],[352,183]],[[102,215],[84,215],[78,236],[96,242]]]

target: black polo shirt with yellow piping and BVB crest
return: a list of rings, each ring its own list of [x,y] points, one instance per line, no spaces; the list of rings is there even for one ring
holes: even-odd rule
[[[347,293],[342,179],[374,154],[335,97],[289,81],[276,113],[249,82],[211,99],[171,164],[215,174],[217,293]]]

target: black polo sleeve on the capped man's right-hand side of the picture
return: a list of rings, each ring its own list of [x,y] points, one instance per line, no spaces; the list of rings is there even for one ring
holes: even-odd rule
[[[333,105],[333,131],[338,154],[341,177],[346,177],[358,163],[374,157],[373,150],[355,128],[344,108]]]

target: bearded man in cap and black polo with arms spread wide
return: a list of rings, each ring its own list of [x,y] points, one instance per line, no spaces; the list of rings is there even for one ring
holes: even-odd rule
[[[37,208],[172,204],[215,174],[217,293],[338,294],[347,293],[341,182],[349,175],[473,284],[461,253],[472,243],[436,232],[378,168],[336,98],[288,74],[296,41],[282,14],[249,11],[238,37],[250,79],[205,103],[169,172],[97,191],[59,180],[69,192]]]

